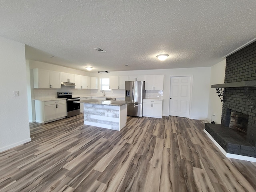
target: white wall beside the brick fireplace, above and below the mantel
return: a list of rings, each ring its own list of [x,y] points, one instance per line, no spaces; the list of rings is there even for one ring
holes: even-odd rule
[[[224,83],[226,59],[212,66],[210,86]],[[208,120],[221,123],[222,102],[216,93],[215,88],[210,88]],[[212,116],[215,114],[215,116]]]

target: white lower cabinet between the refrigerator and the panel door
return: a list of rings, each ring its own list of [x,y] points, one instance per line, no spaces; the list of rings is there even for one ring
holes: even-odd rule
[[[162,118],[162,100],[143,99],[143,116]]]

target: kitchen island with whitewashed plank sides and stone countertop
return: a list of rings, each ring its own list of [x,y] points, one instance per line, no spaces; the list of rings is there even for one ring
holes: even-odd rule
[[[126,124],[126,101],[81,100],[84,104],[84,124],[120,131]]]

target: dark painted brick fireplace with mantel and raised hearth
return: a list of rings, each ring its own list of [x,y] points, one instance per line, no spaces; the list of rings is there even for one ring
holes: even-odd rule
[[[205,130],[230,154],[256,158],[256,42],[226,58],[221,125]]]

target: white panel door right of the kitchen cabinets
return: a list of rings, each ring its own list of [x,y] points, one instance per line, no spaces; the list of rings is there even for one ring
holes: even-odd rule
[[[189,117],[191,77],[171,77],[170,116]]]

